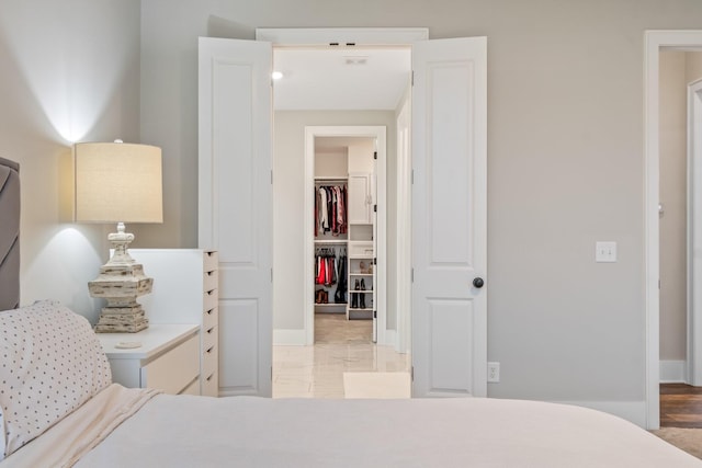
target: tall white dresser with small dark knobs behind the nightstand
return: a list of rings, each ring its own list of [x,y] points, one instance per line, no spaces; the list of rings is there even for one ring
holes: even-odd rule
[[[154,278],[151,294],[141,296],[151,324],[201,326],[201,395],[218,393],[217,252],[202,249],[129,249]]]

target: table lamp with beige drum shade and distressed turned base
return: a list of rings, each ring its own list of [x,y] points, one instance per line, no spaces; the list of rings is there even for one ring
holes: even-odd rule
[[[92,297],[102,297],[95,326],[98,333],[135,333],[148,328],[137,297],[151,292],[152,278],[129,255],[134,235],[124,222],[162,222],[161,149],[148,145],[81,142],[73,146],[76,220],[116,222],[117,232],[107,236],[114,253],[88,283]]]

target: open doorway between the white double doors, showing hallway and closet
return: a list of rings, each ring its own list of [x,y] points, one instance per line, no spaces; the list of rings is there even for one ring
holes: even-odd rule
[[[283,47],[274,48],[273,57],[274,69],[282,75],[274,82],[273,93],[273,164],[274,173],[285,174],[274,180],[273,222],[290,226],[296,221],[291,219],[292,213],[298,213],[302,219],[299,238],[292,240],[287,230],[274,233],[274,271],[296,272],[309,278],[298,292],[292,292],[291,284],[274,281],[275,321],[292,319],[295,313],[299,317],[299,310],[304,317],[303,335],[275,330],[274,344],[371,344],[351,351],[366,356],[377,356],[377,345],[385,346],[381,362],[371,359],[367,368],[354,370],[378,372],[389,359],[394,362],[390,368],[408,372],[409,354],[392,356],[398,313],[409,315],[409,310],[397,310],[397,259],[394,252],[388,255],[387,244],[396,246],[398,237],[409,238],[409,232],[398,232],[395,180],[397,116],[409,94],[410,50]],[[291,181],[293,172],[302,175],[297,184]],[[322,228],[317,206],[320,189],[325,196],[347,197],[341,226],[330,215],[326,230]],[[296,193],[304,194],[302,199]],[[403,202],[403,206],[408,204]],[[333,276],[320,277],[325,271]],[[293,296],[295,307],[291,307]],[[403,317],[401,321],[408,319]],[[338,342],[330,343],[335,336]],[[282,351],[287,369],[299,367],[293,362],[293,353],[299,350],[279,349],[276,353],[274,349],[274,396],[281,395],[276,381],[285,379],[281,375],[285,372],[276,365]],[[307,365],[314,367],[314,363]],[[331,376],[326,379],[333,380]],[[409,385],[407,379],[407,393]],[[316,392],[329,393],[328,388]]]

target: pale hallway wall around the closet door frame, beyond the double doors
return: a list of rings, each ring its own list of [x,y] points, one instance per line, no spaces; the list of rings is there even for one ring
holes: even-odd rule
[[[304,265],[304,157],[306,126],[382,125],[387,127],[387,155],[395,155],[393,111],[278,111],[273,145],[273,329],[303,330],[303,292],[312,278],[301,274]],[[392,164],[395,167],[395,163]],[[388,179],[392,179],[388,176]],[[394,185],[393,185],[394,186]],[[389,190],[389,187],[388,187]],[[388,206],[388,213],[392,208]],[[389,220],[388,220],[389,225]],[[393,232],[395,235],[395,232]],[[389,236],[389,229],[388,229]],[[389,261],[388,261],[389,263]],[[388,285],[392,283],[388,269]],[[394,290],[394,289],[393,289]],[[393,293],[394,294],[394,293]],[[388,300],[390,292],[388,290]],[[388,316],[390,304],[388,303]],[[394,310],[394,309],[393,309]],[[388,318],[388,323],[395,323]]]

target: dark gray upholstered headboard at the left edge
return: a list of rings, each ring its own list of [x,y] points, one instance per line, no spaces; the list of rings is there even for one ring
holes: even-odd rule
[[[20,306],[20,164],[0,158],[0,310]]]

